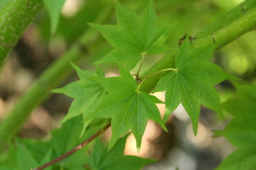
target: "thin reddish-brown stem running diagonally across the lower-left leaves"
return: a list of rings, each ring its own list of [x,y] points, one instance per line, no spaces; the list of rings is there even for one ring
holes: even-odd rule
[[[96,137],[101,135],[108,127],[110,127],[110,124],[107,124],[105,127],[103,127],[98,132],[96,132],[94,135],[92,135],[90,138],[88,138],[87,140],[83,141],[83,143],[81,143],[80,145],[76,146],[75,148],[73,148],[72,150],[68,151],[67,153],[64,153],[62,156],[59,156],[58,158],[55,158],[54,160],[50,161],[49,163],[45,163],[44,165],[39,166],[38,168],[33,169],[33,170],[46,169],[48,166],[51,166],[54,163],[57,163],[58,161],[61,161],[62,159],[66,158],[67,156],[70,156],[71,154],[75,153],[76,151],[80,150],[85,145],[90,143],[91,140],[94,140]]]

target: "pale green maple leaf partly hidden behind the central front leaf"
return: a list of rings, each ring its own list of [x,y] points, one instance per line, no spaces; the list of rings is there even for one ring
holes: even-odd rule
[[[64,88],[58,88],[52,90],[54,93],[63,93],[70,98],[75,98],[73,103],[70,105],[70,109],[67,115],[62,119],[62,123],[75,116],[83,114],[89,114],[96,109],[96,106],[100,103],[106,92],[99,82],[92,80],[90,77],[104,77],[104,73],[101,69],[97,69],[96,73],[88,70],[83,70],[72,64],[76,72],[78,73],[79,81],[72,82]],[[90,124],[91,120],[83,122],[83,132],[86,127]]]

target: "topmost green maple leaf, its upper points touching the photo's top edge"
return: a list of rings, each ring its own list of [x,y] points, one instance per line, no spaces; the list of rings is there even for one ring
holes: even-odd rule
[[[132,69],[145,54],[160,54],[168,49],[162,43],[167,38],[170,27],[159,27],[154,1],[149,0],[139,17],[135,12],[115,2],[117,25],[98,25],[89,23],[99,30],[115,49],[96,62],[124,64]]]

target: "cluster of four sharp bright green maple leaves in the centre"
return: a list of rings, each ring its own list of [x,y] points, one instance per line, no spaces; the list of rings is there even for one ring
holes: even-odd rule
[[[197,134],[200,105],[222,115],[220,98],[213,85],[234,77],[209,61],[215,46],[191,48],[189,40],[186,39],[177,50],[175,68],[160,70],[168,74],[162,77],[153,90],[153,93],[165,91],[166,109],[162,120],[156,103],[163,102],[140,89],[144,80],[151,75],[140,77],[139,72],[144,57],[167,51],[168,46],[163,43],[170,27],[158,25],[153,0],[149,0],[140,16],[123,7],[119,1],[115,2],[115,12],[117,25],[89,25],[99,30],[114,47],[110,54],[96,64],[117,63],[120,66],[120,77],[106,78],[99,68],[94,73],[73,64],[80,80],[65,88],[54,90],[55,93],[64,93],[75,98],[62,122],[82,114],[85,132],[90,122],[96,119],[111,119],[112,139],[109,149],[131,129],[139,150],[148,120],[157,122],[165,129],[165,122],[180,103],[191,117],[194,134]],[[129,70],[133,69],[140,59],[141,65],[133,78]],[[154,74],[157,73],[159,72]]]

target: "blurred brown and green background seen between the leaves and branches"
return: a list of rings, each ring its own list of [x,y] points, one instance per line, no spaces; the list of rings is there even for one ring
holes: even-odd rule
[[[65,54],[70,46],[88,29],[86,22],[91,22],[101,11],[107,0],[67,0],[62,9],[59,27],[51,35],[49,16],[45,9],[36,17],[28,30],[7,57],[0,72],[0,119],[8,113],[15,101],[25,93],[33,80],[49,65]],[[146,0],[123,0],[125,6],[140,13],[146,6]],[[160,25],[171,25],[178,21],[171,31],[165,44],[172,48],[178,47],[178,41],[183,35],[195,35],[211,22],[218,20],[223,14],[239,5],[243,0],[155,0]],[[114,9],[105,24],[115,24]],[[112,47],[95,32],[95,41],[86,46],[84,58],[80,61],[83,69],[94,70],[94,61],[101,59]],[[220,65],[231,75],[240,77],[247,82],[255,82],[256,75],[256,32],[243,35],[228,46],[216,51],[212,61]],[[146,61],[145,71],[152,63],[162,56],[152,56]],[[118,75],[114,64],[100,66],[107,76]],[[62,85],[78,80],[73,73]],[[223,82],[216,88],[220,92],[221,101],[226,101],[234,93],[230,82]],[[164,93],[155,93],[164,101]],[[34,109],[19,132],[20,137],[41,139],[51,129],[59,127],[59,121],[67,113],[72,102],[65,95],[51,94],[41,105]],[[161,113],[164,105],[158,105]],[[146,170],[176,169],[207,170],[215,169],[220,161],[232,152],[233,148],[222,138],[212,138],[214,129],[223,129],[231,118],[226,114],[226,120],[220,120],[212,111],[202,108],[199,132],[194,137],[189,116],[182,106],[174,111],[168,121],[168,133],[163,132],[154,122],[149,122],[144,134],[141,152],[136,152],[136,141],[131,135],[125,148],[125,154],[157,158],[157,163],[147,166]],[[110,130],[104,134],[105,140],[110,140]]]

